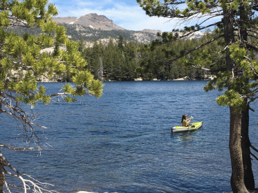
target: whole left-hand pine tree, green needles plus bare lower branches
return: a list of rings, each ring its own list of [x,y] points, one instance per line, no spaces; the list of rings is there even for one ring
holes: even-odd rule
[[[48,4],[48,0],[2,0],[0,5],[0,113],[20,121],[27,142],[33,140],[40,147],[35,128],[44,127],[32,121],[21,103],[35,107],[37,103],[50,103],[53,97],[61,97],[67,102],[75,101],[75,96],[85,94],[100,97],[102,82],[94,80],[93,75],[84,70],[86,61],[78,51],[79,44],[68,40],[66,29],[51,21],[57,15],[57,9],[53,4]],[[7,30],[10,26],[39,28],[42,33],[19,36]],[[47,51],[54,47],[53,54]],[[58,93],[46,94],[47,88],[39,86],[37,82],[42,77],[53,79],[64,76],[71,77],[74,86],[66,83],[62,92]],[[0,145],[10,150],[27,150]],[[7,172],[6,167],[12,173]],[[41,184],[26,179],[28,176],[21,175],[1,152],[0,170],[0,193],[4,188],[11,192],[15,187],[24,192],[28,188],[41,192]],[[17,177],[24,186],[9,185],[7,175]]]

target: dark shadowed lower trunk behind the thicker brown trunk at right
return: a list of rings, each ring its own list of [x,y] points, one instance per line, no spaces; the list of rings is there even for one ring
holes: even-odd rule
[[[247,101],[246,101],[247,102]],[[241,112],[241,149],[243,157],[243,178],[248,190],[255,189],[255,179],[252,174],[249,140],[249,105]]]

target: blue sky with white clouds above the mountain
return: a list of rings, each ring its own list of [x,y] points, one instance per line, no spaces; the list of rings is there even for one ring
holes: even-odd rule
[[[136,0],[49,0],[58,10],[57,17],[82,17],[96,13],[113,20],[127,30],[171,32],[178,22],[163,17],[149,17]]]

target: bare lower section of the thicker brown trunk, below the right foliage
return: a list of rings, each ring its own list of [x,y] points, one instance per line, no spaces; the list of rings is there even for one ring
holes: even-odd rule
[[[248,193],[243,180],[243,156],[241,148],[241,113],[230,107],[230,159],[232,176],[230,184],[234,193]]]

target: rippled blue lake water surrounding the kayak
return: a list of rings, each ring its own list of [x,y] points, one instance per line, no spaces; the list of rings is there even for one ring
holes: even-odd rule
[[[203,91],[206,83],[107,82],[100,99],[39,104],[35,122],[47,129],[38,134],[51,146],[43,145],[41,156],[1,151],[20,172],[59,192],[230,192],[229,109],[216,104],[221,92]],[[44,85],[57,92],[62,83]],[[258,147],[257,103],[251,107],[250,140]],[[172,134],[182,114],[204,121],[203,128]],[[24,144],[14,138],[15,121],[3,114],[0,121],[1,143]]]

